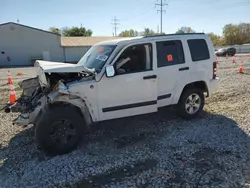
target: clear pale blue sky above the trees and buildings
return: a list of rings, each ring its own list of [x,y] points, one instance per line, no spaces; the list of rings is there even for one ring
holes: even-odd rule
[[[126,29],[157,31],[161,0],[1,0],[0,24],[17,22],[48,30],[50,27],[81,26],[93,36],[112,36],[112,19],[119,20],[117,34]],[[164,2],[164,0],[163,0]],[[250,0],[166,0],[163,27],[174,33],[182,26],[196,32],[222,34],[225,24],[250,23]]]

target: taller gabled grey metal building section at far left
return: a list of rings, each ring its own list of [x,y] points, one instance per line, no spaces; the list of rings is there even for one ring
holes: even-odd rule
[[[63,61],[61,36],[12,22],[0,25],[0,67],[32,65],[34,59]]]

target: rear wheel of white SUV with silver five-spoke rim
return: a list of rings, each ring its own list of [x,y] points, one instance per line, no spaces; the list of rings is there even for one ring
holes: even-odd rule
[[[179,100],[178,111],[182,118],[193,119],[202,111],[205,103],[203,91],[186,89]]]

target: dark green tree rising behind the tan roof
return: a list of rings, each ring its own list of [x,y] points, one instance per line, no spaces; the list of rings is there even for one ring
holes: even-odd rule
[[[86,29],[85,27],[71,27],[63,29],[64,36],[85,36],[90,37],[93,32],[90,29]]]

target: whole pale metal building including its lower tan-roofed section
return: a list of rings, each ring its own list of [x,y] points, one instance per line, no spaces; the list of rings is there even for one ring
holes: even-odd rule
[[[17,24],[0,24],[0,67],[31,66],[35,60],[78,62],[94,44],[120,37],[61,37]]]

